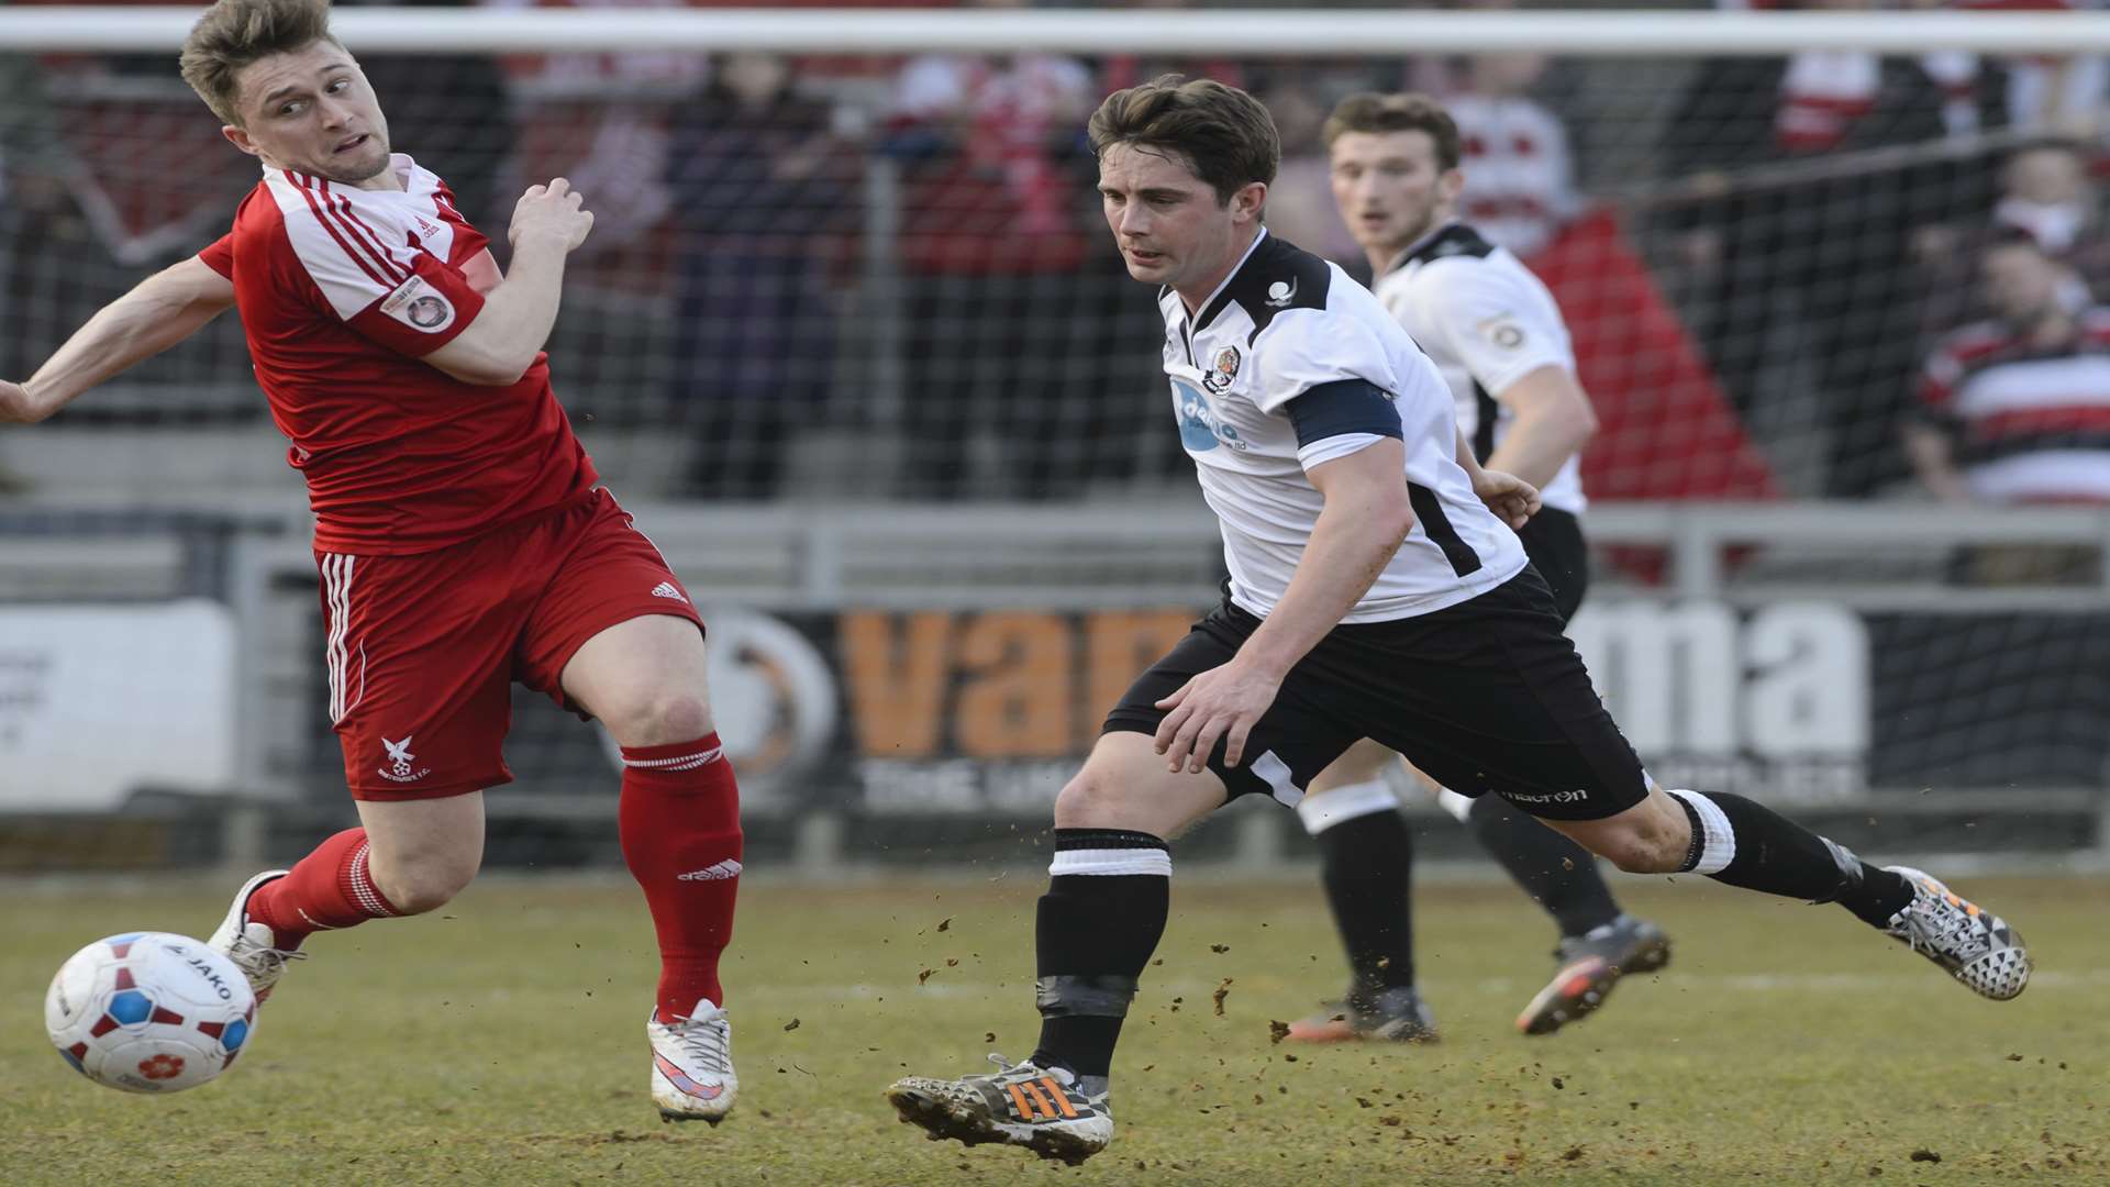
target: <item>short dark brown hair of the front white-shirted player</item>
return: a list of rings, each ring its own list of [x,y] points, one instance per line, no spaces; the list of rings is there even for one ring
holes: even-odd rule
[[[1213,78],[1160,74],[1114,91],[1091,114],[1091,154],[1116,144],[1177,152],[1215,190],[1217,205],[1253,182],[1272,182],[1283,137],[1260,99]]]

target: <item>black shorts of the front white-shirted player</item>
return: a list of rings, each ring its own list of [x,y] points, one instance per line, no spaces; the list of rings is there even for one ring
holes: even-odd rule
[[[1228,600],[1150,665],[1106,716],[1106,733],[1156,733],[1154,708],[1198,672],[1222,667],[1260,627]],[[1253,727],[1245,762],[1209,769],[1232,796],[1285,805],[1357,739],[1407,756],[1464,794],[1496,792],[1532,815],[1604,819],[1648,796],[1633,746],[1604,712],[1538,572],[1456,606],[1327,632],[1283,680]]]

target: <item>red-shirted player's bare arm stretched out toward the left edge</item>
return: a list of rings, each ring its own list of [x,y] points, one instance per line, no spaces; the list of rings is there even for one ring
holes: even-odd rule
[[[23,382],[0,382],[0,422],[36,425],[127,368],[152,359],[234,304],[234,281],[192,256],[139,281],[91,317]]]

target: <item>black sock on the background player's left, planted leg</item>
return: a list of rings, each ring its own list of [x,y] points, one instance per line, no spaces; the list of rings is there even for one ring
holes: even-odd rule
[[[1414,984],[1414,834],[1399,809],[1331,822],[1312,841],[1348,948],[1350,993]]]

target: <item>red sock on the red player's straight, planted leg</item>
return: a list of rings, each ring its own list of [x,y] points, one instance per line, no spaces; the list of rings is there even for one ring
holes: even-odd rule
[[[698,997],[724,1005],[717,955],[732,938],[741,889],[741,790],[717,735],[625,746],[616,819],[658,931],[660,1022],[688,1016]]]

